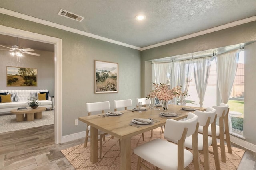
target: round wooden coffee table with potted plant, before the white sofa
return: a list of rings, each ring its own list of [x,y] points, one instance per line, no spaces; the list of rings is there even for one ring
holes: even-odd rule
[[[33,121],[34,119],[42,119],[42,111],[45,111],[46,107],[37,107],[36,109],[28,108],[26,110],[12,109],[10,112],[16,114],[16,121],[24,121],[24,114],[27,121]]]

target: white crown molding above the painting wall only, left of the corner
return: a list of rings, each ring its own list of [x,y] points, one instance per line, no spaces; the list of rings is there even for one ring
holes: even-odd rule
[[[85,31],[80,31],[78,29],[66,27],[66,26],[63,26],[63,25],[60,25],[60,24],[57,24],[57,23],[42,20],[42,19],[39,19],[39,18],[35,18],[35,17],[32,17],[32,16],[25,15],[25,14],[20,14],[18,12],[14,12],[14,11],[7,10],[7,9],[4,9],[4,8],[0,8],[0,13],[6,14],[6,15],[9,15],[9,16],[14,16],[14,17],[17,17],[17,18],[21,18],[23,20],[28,20],[28,21],[40,23],[40,24],[47,25],[47,26],[50,26],[50,27],[62,29],[62,30],[65,30],[65,31],[69,31],[69,32],[72,32],[72,33],[79,34],[79,35],[84,35],[86,37],[91,37],[91,38],[99,39],[99,40],[106,41],[106,42],[109,42],[109,43],[122,45],[124,47],[129,47],[129,48],[132,48],[132,49],[141,50],[140,47],[136,47],[134,45],[122,43],[122,42],[119,42],[119,41],[115,41],[113,39],[101,37],[101,36],[98,36],[98,35],[94,35],[92,33],[88,33],[88,32],[85,32]]]

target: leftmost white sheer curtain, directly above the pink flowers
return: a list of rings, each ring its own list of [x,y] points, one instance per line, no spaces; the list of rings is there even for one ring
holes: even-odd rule
[[[154,74],[156,83],[166,83],[170,84],[170,77],[171,77],[171,70],[172,70],[172,63],[154,63]]]

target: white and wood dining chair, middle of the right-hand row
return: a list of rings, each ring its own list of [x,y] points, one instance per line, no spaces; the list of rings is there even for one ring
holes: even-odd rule
[[[198,111],[196,110],[194,112],[195,115],[198,116],[198,123],[199,127],[202,127],[203,133],[198,133],[198,150],[199,153],[202,153],[204,155],[204,162],[200,161],[204,165],[205,170],[210,169],[210,162],[209,162],[209,147],[212,145],[213,152],[210,152],[211,154],[214,154],[214,162],[216,170],[220,170],[220,161],[218,157],[218,147],[217,147],[217,139],[216,139],[216,110],[212,107],[208,107],[206,111]],[[208,136],[208,127],[209,125],[212,127],[212,136]],[[177,140],[170,140],[173,143],[177,143]],[[186,137],[184,146],[188,149],[192,148],[192,137]]]

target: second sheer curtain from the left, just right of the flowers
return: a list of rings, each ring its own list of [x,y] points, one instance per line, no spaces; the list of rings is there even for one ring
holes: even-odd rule
[[[174,62],[175,86],[182,86],[182,93],[188,92],[190,82],[192,60],[183,60]],[[186,96],[181,96],[180,101],[184,101]]]

